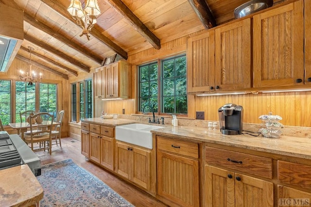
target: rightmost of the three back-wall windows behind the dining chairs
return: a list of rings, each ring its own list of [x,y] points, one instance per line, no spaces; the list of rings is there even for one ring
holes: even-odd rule
[[[49,112],[56,118],[57,115],[57,90],[56,84],[40,83],[39,90],[40,112]]]

